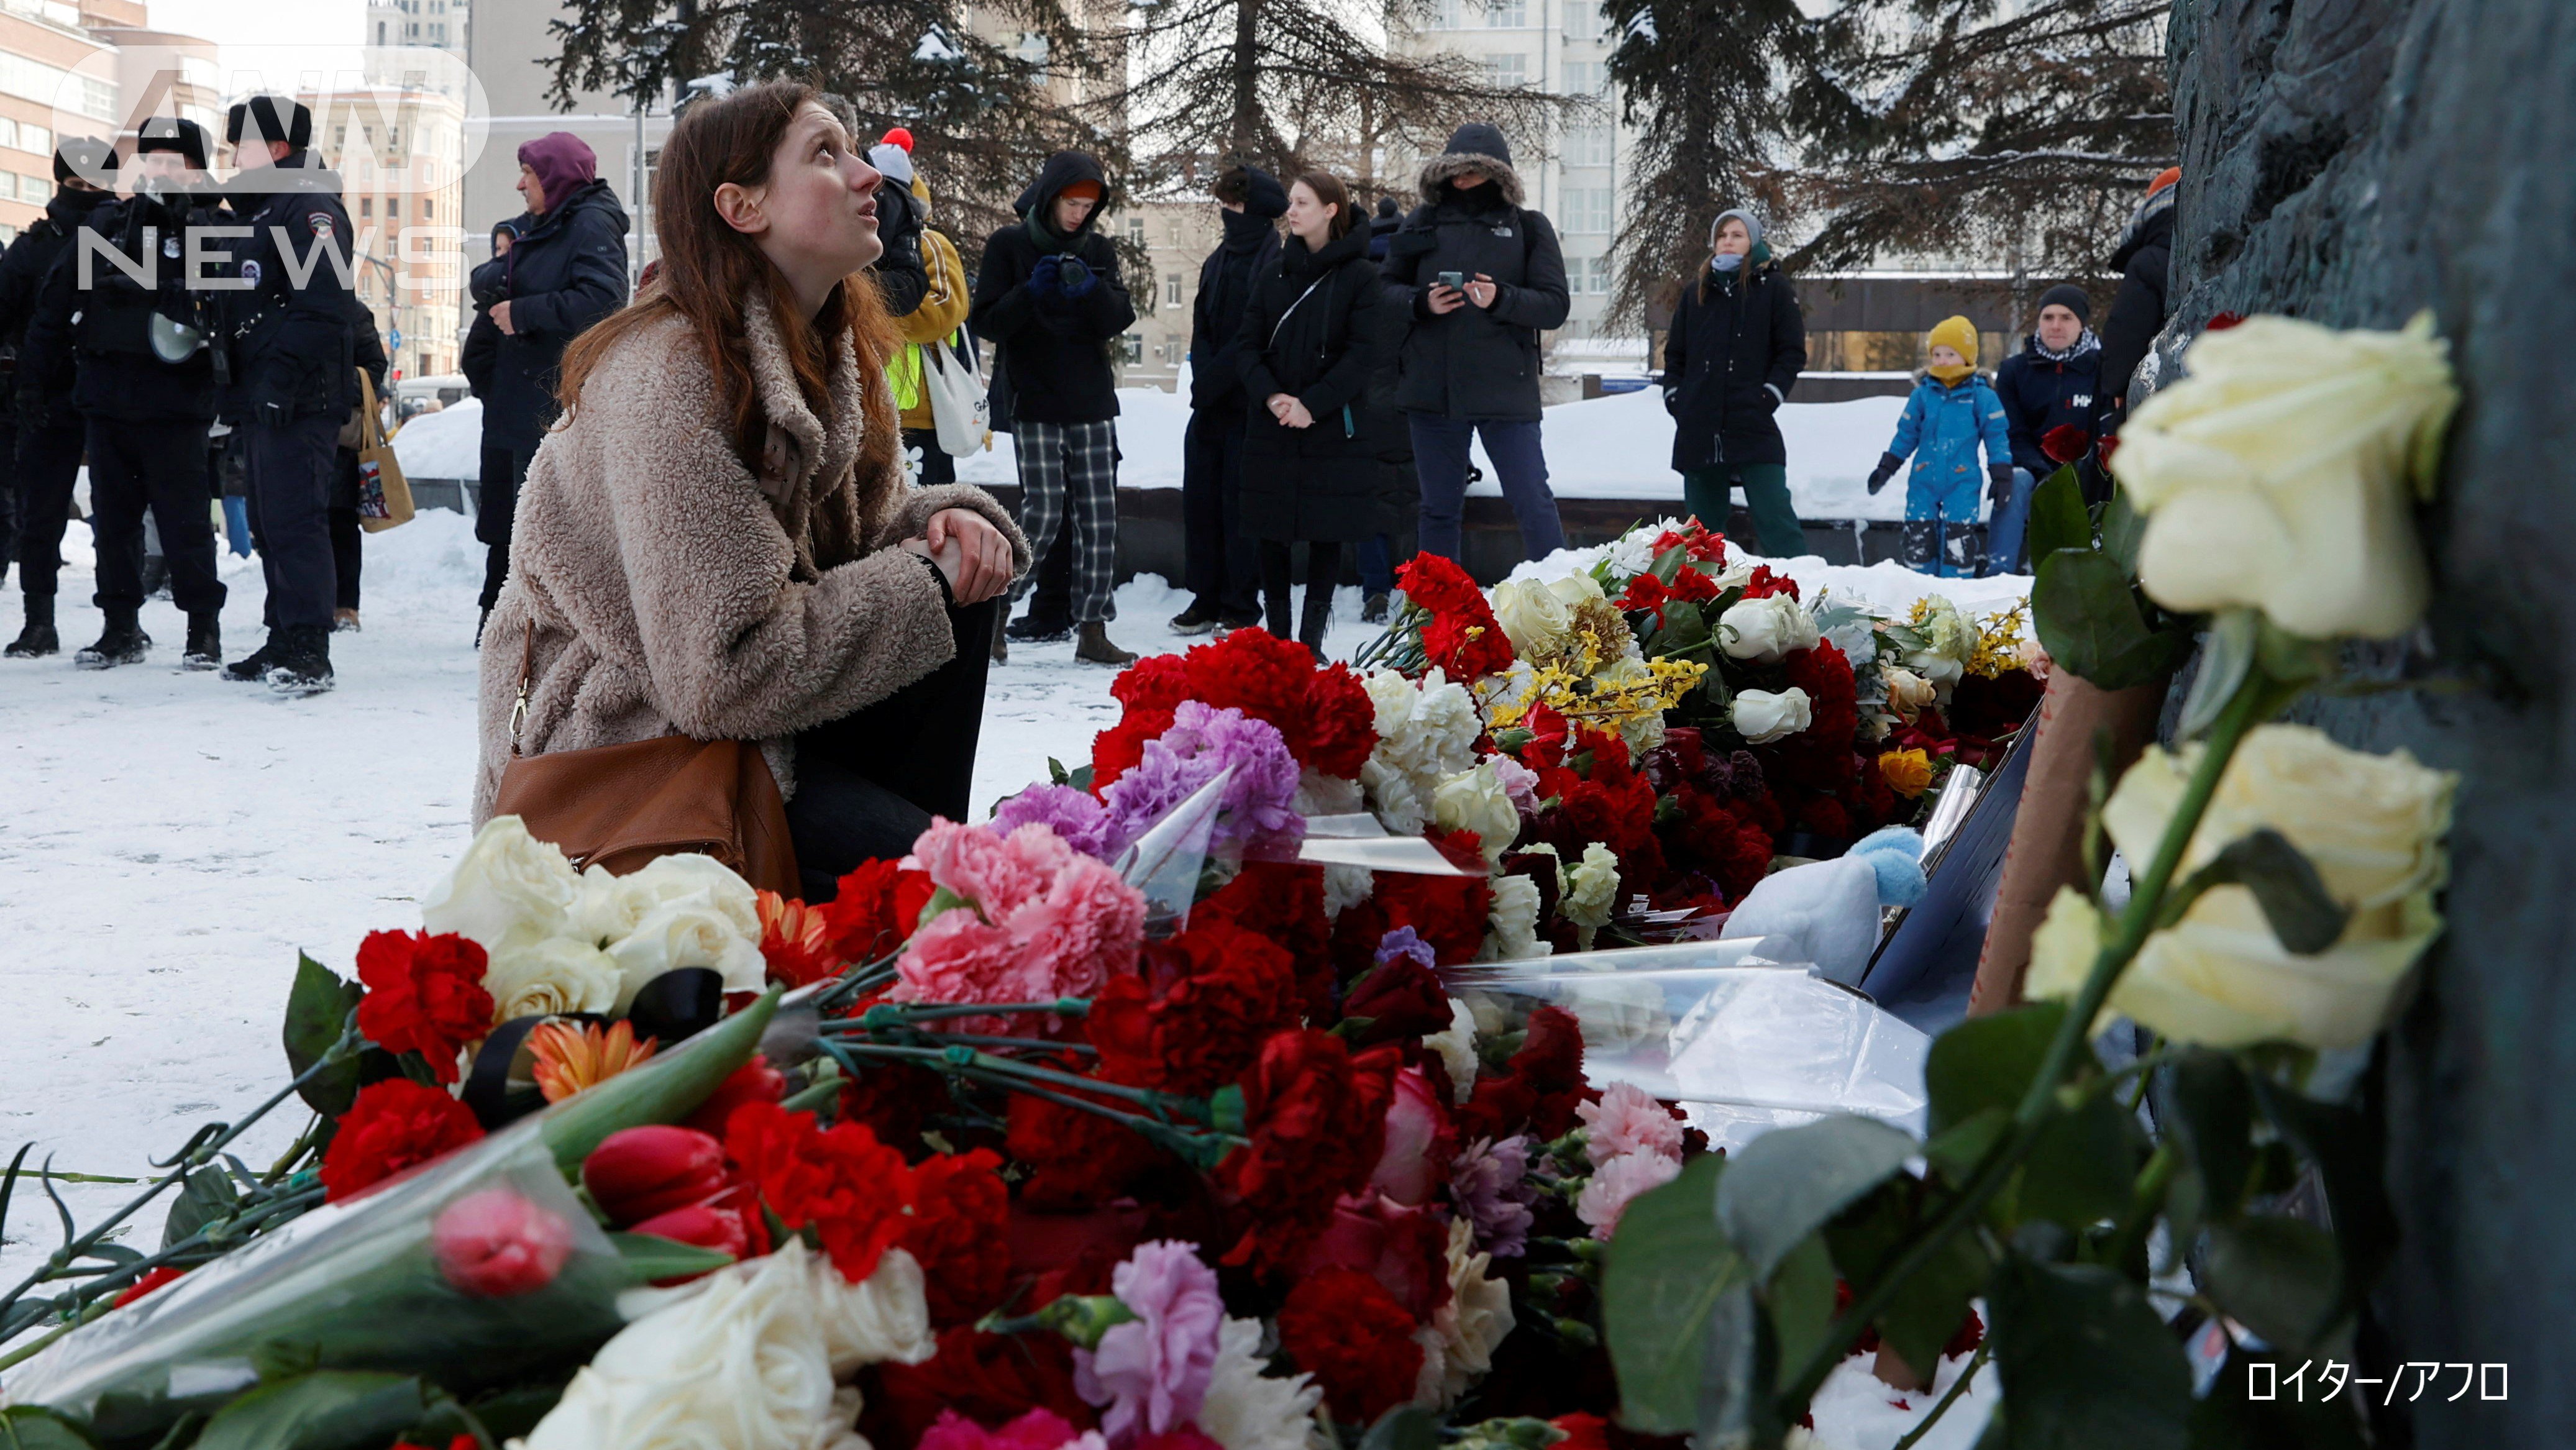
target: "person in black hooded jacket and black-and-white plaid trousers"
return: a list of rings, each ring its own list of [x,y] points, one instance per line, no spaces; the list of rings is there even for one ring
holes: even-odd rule
[[[1010,391],[1020,458],[1020,531],[1043,559],[1074,531],[1074,657],[1131,664],[1108,636],[1118,567],[1118,376],[1110,348],[1136,322],[1118,250],[1095,224],[1108,175],[1084,152],[1046,157],[1020,193],[1020,221],[984,242],[971,325],[994,343],[994,389]],[[1066,518],[1072,515],[1072,518]],[[1028,592],[1028,579],[1015,587]]]

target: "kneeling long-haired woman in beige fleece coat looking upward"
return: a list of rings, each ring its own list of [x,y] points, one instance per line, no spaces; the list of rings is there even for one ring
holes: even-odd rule
[[[966,816],[994,598],[1028,567],[981,489],[914,489],[884,358],[876,170],[801,85],[662,147],[659,286],[564,353],[484,628],[477,827],[513,749],[760,742],[806,899]]]

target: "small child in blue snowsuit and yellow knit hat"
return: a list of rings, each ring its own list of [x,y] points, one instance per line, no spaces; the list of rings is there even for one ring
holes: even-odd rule
[[[1896,443],[1870,471],[1870,492],[1888,487],[1911,453],[1901,543],[1906,569],[1971,577],[1981,554],[1978,492],[1994,492],[1996,500],[2012,492],[2012,430],[2004,399],[1976,371],[1973,322],[1945,317],[1924,335],[1924,345],[1929,366],[1906,399],[1906,415],[1896,420]],[[1976,466],[1978,443],[1986,446],[1984,471]]]

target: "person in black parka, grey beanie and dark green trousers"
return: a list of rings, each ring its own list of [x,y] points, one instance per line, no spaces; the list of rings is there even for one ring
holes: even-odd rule
[[[1806,317],[1752,211],[1721,211],[1708,252],[1664,337],[1672,469],[1703,525],[1723,531],[1728,494],[1741,487],[1762,554],[1795,559],[1808,551],[1806,528],[1772,415],[1806,368]]]

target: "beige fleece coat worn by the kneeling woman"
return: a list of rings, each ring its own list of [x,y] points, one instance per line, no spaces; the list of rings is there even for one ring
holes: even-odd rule
[[[734,453],[714,376],[680,319],[608,355],[528,464],[510,582],[484,626],[477,829],[510,760],[531,618],[523,752],[675,731],[757,739],[793,793],[796,731],[884,701],[956,654],[938,579],[894,543],[920,536],[933,513],[966,507],[1010,536],[1015,569],[1028,569],[1028,543],[984,489],[855,476],[863,417],[848,345],[832,358],[829,417],[806,407],[760,299],[747,345],[770,417],[757,474]],[[817,569],[822,510],[840,510],[845,536],[871,551]]]

